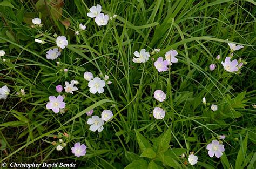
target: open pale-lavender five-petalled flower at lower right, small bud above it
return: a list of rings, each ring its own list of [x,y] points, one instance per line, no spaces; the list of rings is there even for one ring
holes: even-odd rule
[[[213,157],[215,154],[217,158],[220,158],[223,154],[222,152],[225,151],[224,145],[220,144],[217,140],[212,140],[212,143],[208,144],[206,149],[209,150],[208,154],[210,157]]]

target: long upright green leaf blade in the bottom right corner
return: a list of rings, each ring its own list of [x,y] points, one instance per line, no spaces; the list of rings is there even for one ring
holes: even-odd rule
[[[245,159],[246,156],[246,151],[247,151],[247,140],[248,140],[248,133],[245,136],[244,141],[242,141],[242,137],[241,137],[241,147],[239,149],[239,152],[237,154],[237,160],[235,161],[235,169],[240,169],[242,168],[242,163]]]

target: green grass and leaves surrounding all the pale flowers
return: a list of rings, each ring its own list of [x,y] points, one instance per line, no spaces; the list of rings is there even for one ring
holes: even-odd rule
[[[57,7],[52,5],[57,1],[46,2],[47,6],[42,0],[0,3],[0,50],[6,52],[0,59],[0,87],[11,90],[0,100],[1,162],[62,161],[81,168],[256,167],[254,1],[74,0]],[[86,16],[96,4],[117,17],[98,26]],[[41,29],[30,27],[35,17],[42,18]],[[65,19],[68,29],[61,22]],[[76,36],[79,23],[87,28]],[[56,46],[54,33],[69,41],[58,66],[45,57]],[[35,43],[35,38],[46,43]],[[230,56],[226,39],[244,45],[232,58],[247,62],[239,74],[221,65]],[[142,48],[161,51],[145,64],[133,63],[133,52]],[[178,51],[179,62],[158,73],[151,59],[171,49]],[[208,69],[212,63],[217,64],[214,71]],[[109,75],[112,84],[103,94],[91,94],[85,71]],[[72,79],[78,80],[78,91],[63,92],[66,112],[47,110],[48,97],[58,95],[55,86]],[[16,95],[21,89],[25,96]],[[157,89],[166,93],[165,102],[154,99]],[[211,110],[212,104],[218,111]],[[156,106],[166,111],[164,120],[153,118]],[[106,109],[114,114],[100,133],[86,124],[85,113],[91,109],[97,116]],[[52,145],[58,133],[67,144],[60,152]],[[220,134],[226,136],[225,153],[211,158],[206,145]],[[71,153],[76,142],[87,146],[85,156]],[[187,160],[192,151],[198,156],[194,166]]]

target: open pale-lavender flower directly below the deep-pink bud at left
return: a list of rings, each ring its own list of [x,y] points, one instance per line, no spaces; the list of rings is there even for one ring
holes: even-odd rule
[[[50,110],[52,109],[53,112],[58,113],[59,109],[64,109],[66,106],[66,103],[63,102],[64,98],[62,96],[49,96],[49,101],[46,104],[46,109]]]

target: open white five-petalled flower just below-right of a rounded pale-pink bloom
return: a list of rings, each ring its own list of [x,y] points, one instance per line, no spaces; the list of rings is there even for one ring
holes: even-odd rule
[[[98,77],[93,78],[93,80],[90,80],[90,82],[88,83],[88,87],[90,87],[90,92],[92,94],[95,94],[97,92],[99,94],[103,93],[104,92],[103,87],[105,85],[106,85],[105,81],[101,80]]]

